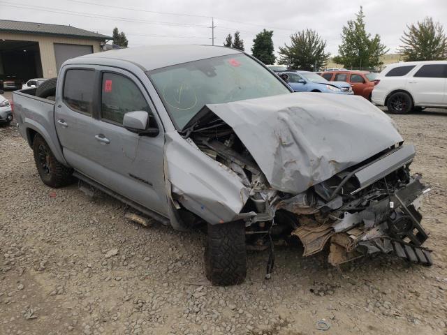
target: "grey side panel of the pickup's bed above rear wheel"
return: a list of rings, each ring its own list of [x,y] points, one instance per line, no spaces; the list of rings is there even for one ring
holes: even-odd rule
[[[39,98],[36,89],[21,89],[13,92],[14,117],[20,135],[32,147],[34,136],[40,134],[50,146],[57,161],[66,164],[54,124],[54,101]]]

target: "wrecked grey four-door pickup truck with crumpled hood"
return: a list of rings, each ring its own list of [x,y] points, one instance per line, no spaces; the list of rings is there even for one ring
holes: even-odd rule
[[[244,281],[247,249],[300,241],[332,265],[431,265],[415,151],[364,98],[293,93],[243,52],[151,46],[66,61],[14,92],[42,181],[74,178],[177,230],[207,227],[205,272]]]

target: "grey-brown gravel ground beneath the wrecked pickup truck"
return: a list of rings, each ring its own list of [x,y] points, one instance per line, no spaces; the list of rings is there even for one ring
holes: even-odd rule
[[[202,233],[142,228],[106,195],[47,188],[16,128],[0,128],[0,334],[447,334],[447,111],[393,119],[432,185],[434,265],[379,256],[335,269],[277,248],[270,281],[268,253],[251,252],[230,288],[204,277]]]

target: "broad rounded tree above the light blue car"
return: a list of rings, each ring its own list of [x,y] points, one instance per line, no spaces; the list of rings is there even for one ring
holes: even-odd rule
[[[296,70],[317,70],[324,66],[330,54],[325,52],[326,41],[312,29],[291,35],[291,45],[279,47],[279,64]]]

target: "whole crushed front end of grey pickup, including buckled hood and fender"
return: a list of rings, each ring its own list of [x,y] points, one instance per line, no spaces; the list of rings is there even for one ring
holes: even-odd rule
[[[431,265],[414,147],[365,99],[332,96],[205,106],[167,136],[173,208],[210,224],[244,221],[255,249],[298,237],[305,256],[329,248],[335,266],[374,253]]]

